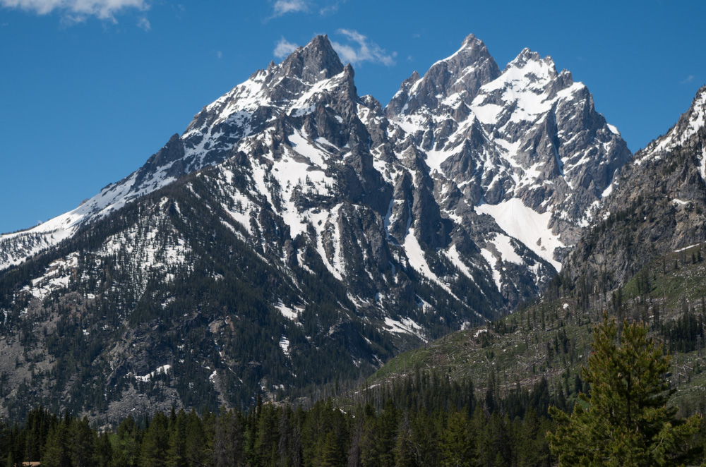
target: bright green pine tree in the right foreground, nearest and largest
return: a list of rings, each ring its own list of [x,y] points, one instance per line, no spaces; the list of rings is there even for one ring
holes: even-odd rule
[[[548,434],[549,446],[560,465],[671,466],[692,459],[689,441],[700,418],[678,420],[676,408],[666,406],[673,394],[668,370],[669,356],[647,338],[644,324],[626,320],[618,339],[615,320],[604,313],[583,370],[591,390],[579,397],[587,408],[576,404],[571,416],[551,408],[558,427]]]

